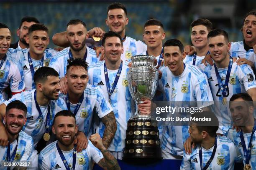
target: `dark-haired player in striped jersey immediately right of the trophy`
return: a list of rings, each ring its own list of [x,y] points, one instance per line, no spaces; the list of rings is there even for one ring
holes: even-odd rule
[[[206,76],[194,65],[183,63],[183,44],[177,39],[167,40],[163,46],[164,62],[158,90],[166,101],[197,101],[197,107],[212,104],[212,94]],[[201,101],[201,102],[200,102]],[[179,159],[183,155],[183,143],[189,137],[188,126],[163,125],[161,140],[162,157]],[[179,134],[179,135],[174,135]]]

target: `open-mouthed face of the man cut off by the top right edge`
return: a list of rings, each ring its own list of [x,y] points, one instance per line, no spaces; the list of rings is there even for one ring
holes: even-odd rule
[[[247,45],[256,45],[256,16],[248,15],[243,23],[243,38]]]

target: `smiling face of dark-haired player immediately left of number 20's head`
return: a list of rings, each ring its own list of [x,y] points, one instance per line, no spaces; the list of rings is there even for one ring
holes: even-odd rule
[[[191,30],[191,42],[197,48],[204,48],[207,46],[208,30],[204,25],[196,25]]]

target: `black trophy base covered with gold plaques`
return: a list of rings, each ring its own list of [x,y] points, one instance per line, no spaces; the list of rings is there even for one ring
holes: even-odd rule
[[[123,159],[162,159],[157,122],[151,116],[136,115],[127,123]]]

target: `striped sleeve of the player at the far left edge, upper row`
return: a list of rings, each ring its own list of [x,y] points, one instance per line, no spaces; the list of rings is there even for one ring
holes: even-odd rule
[[[25,89],[23,70],[15,64],[12,65],[13,67],[10,68],[10,89],[12,92],[21,92]]]

